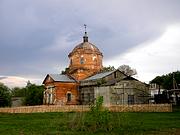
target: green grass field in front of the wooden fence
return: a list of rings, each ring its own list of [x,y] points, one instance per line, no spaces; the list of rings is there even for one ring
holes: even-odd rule
[[[180,135],[180,112],[110,113],[108,128],[94,126],[89,113],[0,113],[1,135]]]

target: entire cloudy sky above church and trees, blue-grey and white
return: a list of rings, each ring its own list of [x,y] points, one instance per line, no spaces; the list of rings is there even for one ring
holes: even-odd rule
[[[180,70],[179,0],[0,0],[0,82],[61,73],[84,24],[104,66],[129,65],[146,83]]]

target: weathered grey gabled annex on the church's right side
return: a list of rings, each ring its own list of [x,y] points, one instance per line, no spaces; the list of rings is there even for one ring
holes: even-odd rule
[[[99,73],[80,81],[81,104],[89,104],[103,96],[104,105],[145,104],[149,101],[149,85],[119,70]]]

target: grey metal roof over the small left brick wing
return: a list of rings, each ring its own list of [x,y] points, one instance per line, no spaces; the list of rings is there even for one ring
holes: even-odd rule
[[[67,75],[49,74],[49,76],[57,82],[76,82],[75,80],[69,78]]]

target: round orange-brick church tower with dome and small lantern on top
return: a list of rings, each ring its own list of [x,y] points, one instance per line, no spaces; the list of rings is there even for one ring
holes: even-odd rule
[[[103,54],[95,45],[88,42],[87,32],[83,36],[83,42],[76,45],[68,57],[68,73],[76,80],[85,79],[102,69]]]

